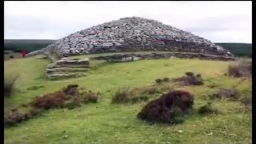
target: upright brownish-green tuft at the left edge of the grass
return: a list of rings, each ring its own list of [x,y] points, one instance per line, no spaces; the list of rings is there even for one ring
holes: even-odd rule
[[[10,97],[15,92],[15,84],[17,83],[18,76],[4,77],[4,97]]]

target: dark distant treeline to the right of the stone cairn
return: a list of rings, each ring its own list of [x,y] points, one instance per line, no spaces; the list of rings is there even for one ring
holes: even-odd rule
[[[247,43],[215,43],[229,50],[238,57],[252,57],[252,44]]]

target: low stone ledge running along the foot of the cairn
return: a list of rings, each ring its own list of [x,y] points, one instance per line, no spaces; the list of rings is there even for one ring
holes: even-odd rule
[[[161,59],[161,58],[183,58],[183,59],[202,59],[202,60],[222,60],[233,61],[234,57],[225,57],[222,55],[210,55],[202,53],[151,53],[151,54],[113,54],[94,59],[107,60],[109,62],[135,61],[139,59]]]

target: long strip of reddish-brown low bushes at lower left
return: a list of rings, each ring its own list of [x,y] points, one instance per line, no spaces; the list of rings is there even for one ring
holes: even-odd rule
[[[28,104],[20,105],[19,109],[29,106],[32,109],[26,110],[26,113],[20,113],[18,109],[11,110],[7,116],[5,115],[5,124],[13,125],[25,121],[40,114],[43,110],[51,108],[74,109],[81,106],[82,103],[97,102],[99,93],[93,93],[92,91],[79,93],[77,87],[78,85],[68,85],[61,91],[44,94],[42,97],[36,97]]]

